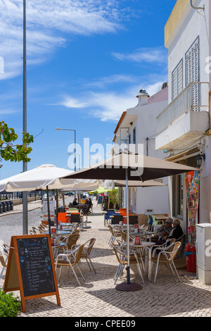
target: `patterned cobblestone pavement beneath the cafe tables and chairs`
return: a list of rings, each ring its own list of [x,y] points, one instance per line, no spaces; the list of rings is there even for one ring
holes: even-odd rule
[[[82,232],[80,243],[91,237],[96,238],[92,251],[92,261],[96,274],[89,270],[86,261],[80,267],[85,277],[82,286],[75,277],[63,269],[58,283],[61,306],[57,306],[56,296],[26,301],[26,313],[20,317],[210,317],[211,286],[199,282],[186,270],[179,270],[181,282],[174,280],[170,270],[161,267],[157,282],[149,282],[144,277],[143,285],[131,267],[131,280],[142,285],[137,292],[121,292],[115,289],[113,276],[117,269],[117,259],[108,246],[110,232],[104,226],[101,208],[95,206],[89,216],[91,229]],[[40,223],[40,219],[38,220]],[[155,268],[153,268],[153,275]],[[153,276],[152,275],[152,276]],[[4,278],[4,276],[3,276]],[[126,280],[126,273],[117,284]],[[3,280],[0,280],[2,286]],[[19,292],[14,292],[19,296]]]

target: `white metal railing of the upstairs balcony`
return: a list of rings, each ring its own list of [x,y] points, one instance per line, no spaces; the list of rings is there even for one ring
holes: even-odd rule
[[[209,83],[191,82],[157,117],[157,135],[188,111],[209,111]]]

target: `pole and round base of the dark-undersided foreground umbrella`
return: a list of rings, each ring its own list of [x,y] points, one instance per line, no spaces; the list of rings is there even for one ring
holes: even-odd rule
[[[142,289],[141,285],[130,282],[129,270],[129,194],[128,194],[128,168],[125,169],[125,193],[126,193],[126,208],[127,208],[127,282],[121,283],[116,286],[119,291],[139,291]]]

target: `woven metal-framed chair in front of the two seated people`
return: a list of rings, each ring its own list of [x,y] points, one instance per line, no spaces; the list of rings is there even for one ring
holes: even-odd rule
[[[170,244],[170,246],[156,247],[156,249],[153,251],[152,263],[156,265],[154,283],[156,282],[159,263],[169,266],[173,276],[175,277],[175,272],[179,282],[181,282],[179,274],[177,273],[177,268],[174,265],[174,258],[176,257],[180,246],[181,242],[174,242],[173,244]],[[157,253],[156,255],[155,251]]]

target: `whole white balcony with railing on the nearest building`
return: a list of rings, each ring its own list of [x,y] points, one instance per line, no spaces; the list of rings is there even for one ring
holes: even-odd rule
[[[209,83],[190,83],[157,117],[156,149],[175,149],[209,128]]]

